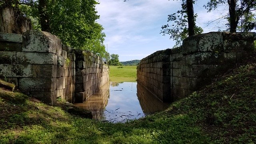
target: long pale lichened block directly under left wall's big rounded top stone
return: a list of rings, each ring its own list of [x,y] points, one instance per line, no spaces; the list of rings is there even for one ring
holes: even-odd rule
[[[58,56],[51,53],[17,52],[17,64],[58,64]]]

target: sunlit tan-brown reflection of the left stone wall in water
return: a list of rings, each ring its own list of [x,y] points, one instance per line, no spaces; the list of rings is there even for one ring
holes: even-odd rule
[[[96,120],[101,120],[104,116],[104,109],[108,104],[110,90],[109,90],[109,82],[102,86],[98,92],[94,95],[90,96],[83,103],[75,104],[80,108],[85,110],[92,111],[92,116]]]

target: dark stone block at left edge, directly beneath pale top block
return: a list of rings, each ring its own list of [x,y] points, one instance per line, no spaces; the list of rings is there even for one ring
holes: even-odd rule
[[[22,44],[21,43],[15,43],[15,42],[1,42],[0,41],[0,51],[21,52],[22,51]]]

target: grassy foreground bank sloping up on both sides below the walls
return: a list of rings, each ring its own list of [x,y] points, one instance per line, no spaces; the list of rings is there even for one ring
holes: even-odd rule
[[[0,143],[256,143],[256,60],[168,110],[126,124],[72,116],[0,89]],[[5,95],[5,96],[2,96]]]

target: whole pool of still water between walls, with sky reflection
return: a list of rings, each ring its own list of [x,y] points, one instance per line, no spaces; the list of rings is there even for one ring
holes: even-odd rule
[[[110,82],[84,103],[75,105],[92,111],[96,120],[126,122],[164,110],[169,104],[162,103],[137,82]]]

